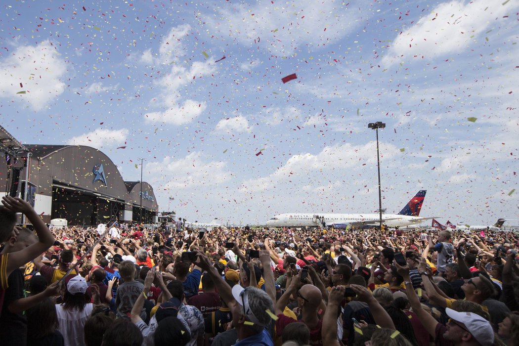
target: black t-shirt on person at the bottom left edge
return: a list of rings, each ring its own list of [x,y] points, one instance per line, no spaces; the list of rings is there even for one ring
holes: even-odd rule
[[[15,300],[25,297],[23,273],[16,269],[7,279],[9,287],[5,291],[2,316],[0,316],[0,345],[25,345],[27,343],[27,319],[23,313],[12,313],[9,305]]]

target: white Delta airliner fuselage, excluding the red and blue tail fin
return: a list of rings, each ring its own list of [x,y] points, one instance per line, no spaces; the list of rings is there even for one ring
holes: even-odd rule
[[[345,227],[350,224],[378,225],[379,214],[279,214],[267,221],[269,227]],[[419,224],[425,219],[418,216],[382,214],[382,222],[387,227],[405,227]],[[324,223],[324,225],[323,225]]]

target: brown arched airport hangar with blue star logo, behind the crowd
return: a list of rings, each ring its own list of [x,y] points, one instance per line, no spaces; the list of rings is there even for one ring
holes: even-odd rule
[[[0,160],[2,195],[24,198],[27,179],[27,200],[45,223],[55,218],[80,226],[116,219],[144,224],[158,220],[153,187],[125,182],[112,160],[98,149],[22,145],[0,127],[0,150],[5,153],[5,160]]]

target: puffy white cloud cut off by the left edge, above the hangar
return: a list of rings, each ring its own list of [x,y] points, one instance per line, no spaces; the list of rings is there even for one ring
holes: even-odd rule
[[[0,61],[0,97],[27,102],[34,110],[44,109],[65,90],[60,80],[65,72],[61,54],[49,40],[18,46]],[[19,91],[26,93],[17,94]]]

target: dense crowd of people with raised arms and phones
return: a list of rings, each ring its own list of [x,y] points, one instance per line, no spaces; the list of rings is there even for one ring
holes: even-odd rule
[[[514,232],[50,231],[2,203],[0,344],[519,344]]]

